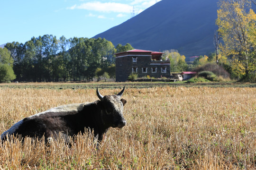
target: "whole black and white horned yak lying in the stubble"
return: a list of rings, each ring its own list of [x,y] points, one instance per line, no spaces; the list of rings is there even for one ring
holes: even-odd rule
[[[22,119],[3,132],[1,140],[6,140],[10,135],[38,138],[45,136],[47,143],[61,134],[69,143],[69,136],[93,130],[94,137],[101,141],[110,127],[126,126],[123,116],[126,100],[121,99],[124,90],[125,87],[117,95],[103,96],[97,87],[96,93],[100,100],[60,106]]]

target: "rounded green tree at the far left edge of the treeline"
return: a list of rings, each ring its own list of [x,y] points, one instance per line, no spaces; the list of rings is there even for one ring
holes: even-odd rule
[[[0,82],[9,82],[16,78],[12,69],[13,59],[7,48],[0,48]]]

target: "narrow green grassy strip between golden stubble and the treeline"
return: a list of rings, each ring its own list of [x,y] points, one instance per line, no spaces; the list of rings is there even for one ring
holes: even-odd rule
[[[186,83],[186,82],[95,82],[95,83],[8,83],[0,84],[0,88],[36,88],[36,89],[92,89],[92,88],[116,89],[123,86],[129,88],[152,87],[256,87],[256,83],[242,82],[210,82],[210,83]]]

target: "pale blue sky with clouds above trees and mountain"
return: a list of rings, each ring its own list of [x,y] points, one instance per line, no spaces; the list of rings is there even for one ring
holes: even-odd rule
[[[0,0],[0,45],[45,34],[91,38],[160,0]]]

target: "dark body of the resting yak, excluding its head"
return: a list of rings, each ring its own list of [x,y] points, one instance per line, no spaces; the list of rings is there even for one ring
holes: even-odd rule
[[[23,119],[12,134],[21,137],[41,138],[45,136],[45,140],[47,140],[48,137],[57,137],[61,133],[67,141],[68,136],[73,137],[80,132],[84,133],[85,128],[87,128],[91,132],[93,130],[94,136],[102,140],[102,136],[107,132],[108,127],[102,122],[101,108],[101,101],[95,101],[84,104],[82,110],[47,110]]]

